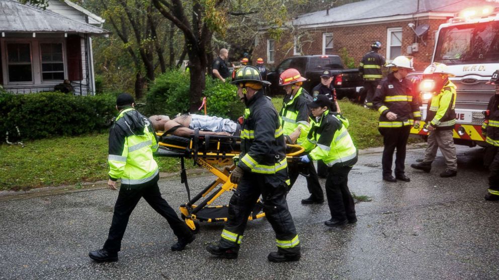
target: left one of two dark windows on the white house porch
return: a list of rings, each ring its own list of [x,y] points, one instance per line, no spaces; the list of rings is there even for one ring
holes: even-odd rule
[[[31,45],[29,43],[7,44],[9,82],[32,82]]]

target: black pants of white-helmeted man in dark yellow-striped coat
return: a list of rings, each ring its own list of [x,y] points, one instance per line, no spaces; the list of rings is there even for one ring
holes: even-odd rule
[[[395,148],[397,154],[395,158],[395,176],[401,176],[405,173],[405,149],[407,138],[409,138],[410,125],[402,127],[380,127],[379,132],[383,135],[383,177],[391,175],[391,165],[393,163],[393,153]]]

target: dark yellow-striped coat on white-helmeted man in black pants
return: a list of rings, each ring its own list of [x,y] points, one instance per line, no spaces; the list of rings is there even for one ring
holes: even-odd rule
[[[373,105],[380,112],[379,127],[402,127],[421,120],[419,96],[413,90],[409,79],[399,81],[393,73],[381,80],[374,93]],[[389,120],[386,113],[397,114]]]

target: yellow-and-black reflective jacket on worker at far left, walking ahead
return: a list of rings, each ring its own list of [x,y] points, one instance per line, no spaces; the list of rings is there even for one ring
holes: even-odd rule
[[[152,157],[158,148],[149,120],[133,108],[123,109],[109,131],[109,178],[122,185],[146,183],[159,169]]]

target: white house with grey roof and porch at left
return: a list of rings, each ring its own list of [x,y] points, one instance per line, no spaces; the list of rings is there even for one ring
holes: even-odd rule
[[[68,1],[46,10],[0,1],[0,85],[13,93],[53,91],[68,79],[76,95],[95,94],[92,36],[104,20]]]

